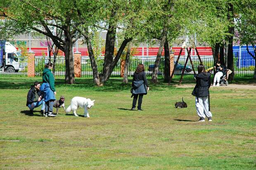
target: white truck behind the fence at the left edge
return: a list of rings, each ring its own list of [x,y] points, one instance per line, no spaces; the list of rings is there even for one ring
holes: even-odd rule
[[[7,41],[0,41],[0,69],[9,73],[24,70],[21,53]]]

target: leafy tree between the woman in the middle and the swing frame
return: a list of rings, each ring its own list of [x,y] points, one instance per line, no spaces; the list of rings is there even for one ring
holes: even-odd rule
[[[152,73],[152,83],[158,82],[157,73],[164,46],[169,48],[168,42],[182,36],[186,30],[185,25],[189,24],[190,5],[190,1],[184,0],[150,0],[147,3],[150,13],[147,16],[145,34],[148,40],[158,39],[160,41]],[[168,63],[170,63],[169,57],[166,56],[166,65]]]

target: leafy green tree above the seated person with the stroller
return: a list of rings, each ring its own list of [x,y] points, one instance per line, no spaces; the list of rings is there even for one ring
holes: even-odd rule
[[[225,44],[230,44],[231,46],[226,51],[227,55],[229,55],[229,62],[227,64],[228,68],[233,71],[233,53],[230,50],[232,50],[232,37],[234,36],[232,28],[234,23],[231,16],[232,12],[228,11],[230,9],[228,2],[230,1],[199,0],[198,2],[199,11],[197,12],[199,12],[199,19],[192,25],[195,28],[190,30],[197,34],[199,41],[206,42],[212,47],[214,64],[218,61],[219,54],[220,62],[225,64],[224,47]]]

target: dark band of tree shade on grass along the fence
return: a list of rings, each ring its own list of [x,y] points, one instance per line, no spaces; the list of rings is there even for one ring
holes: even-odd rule
[[[159,78],[159,83],[152,84],[150,79],[148,78],[149,87],[152,87],[151,90],[166,90],[171,88],[176,88],[174,85],[178,84],[177,80],[174,80],[171,85],[168,83],[162,83],[163,78]],[[10,78],[10,79],[2,79],[0,80],[0,89],[30,89],[30,86],[33,85],[34,81],[39,81],[42,83],[42,79],[38,78]],[[194,83],[194,80],[184,79],[183,83]],[[110,78],[107,82],[104,83],[103,86],[98,87],[94,84],[92,78],[76,78],[76,81],[72,85],[68,85],[64,83],[64,79],[55,79],[55,87],[69,87],[72,89],[83,89],[90,91],[102,91],[102,92],[118,92],[118,91],[127,91],[130,92],[132,79],[129,78],[128,84],[123,84],[122,78]]]

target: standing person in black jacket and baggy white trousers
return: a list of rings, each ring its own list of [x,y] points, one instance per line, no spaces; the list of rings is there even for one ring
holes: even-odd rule
[[[198,121],[204,122],[205,117],[208,118],[208,121],[212,121],[212,114],[208,103],[211,74],[205,71],[203,64],[199,64],[197,71],[198,74],[195,76],[197,85],[194,87],[192,95],[196,96],[197,115],[200,117]]]

